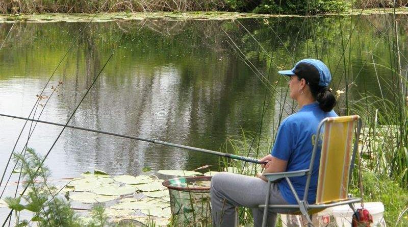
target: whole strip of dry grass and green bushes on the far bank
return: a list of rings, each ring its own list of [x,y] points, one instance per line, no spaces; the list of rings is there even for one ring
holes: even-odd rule
[[[2,0],[0,14],[151,11],[238,11],[316,14],[347,9],[406,7],[408,0]]]

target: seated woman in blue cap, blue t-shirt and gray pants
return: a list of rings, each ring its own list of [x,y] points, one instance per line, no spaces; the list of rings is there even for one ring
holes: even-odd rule
[[[300,110],[287,117],[279,126],[270,155],[260,159],[267,162],[264,173],[308,169],[314,138],[319,122],[335,117],[336,99],[328,90],[331,81],[327,66],[316,59],[303,59],[291,70],[279,71],[290,77],[289,96],[296,100]],[[320,150],[319,150],[320,152]],[[312,171],[308,202],[315,203],[320,156],[316,156]],[[299,197],[303,197],[306,176],[291,178]],[[236,209],[252,208],[254,226],[261,226],[267,180],[222,172],[211,180],[211,206],[213,226],[235,226]],[[286,181],[271,186],[270,204],[297,204]],[[276,213],[268,214],[267,226],[275,226]]]

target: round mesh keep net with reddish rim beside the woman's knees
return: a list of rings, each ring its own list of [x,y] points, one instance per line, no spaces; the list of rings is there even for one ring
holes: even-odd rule
[[[211,176],[191,176],[163,182],[169,189],[174,226],[211,226]]]

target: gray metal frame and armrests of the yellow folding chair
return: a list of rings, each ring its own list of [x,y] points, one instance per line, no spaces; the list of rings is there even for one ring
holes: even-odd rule
[[[320,123],[318,125],[316,135],[320,135],[320,131],[321,131],[323,125],[326,122],[333,121],[336,118],[338,118],[338,117],[327,117],[327,118],[324,118],[322,121],[320,121]],[[355,159],[356,150],[358,149],[359,136],[360,136],[360,131],[361,131],[361,127],[362,127],[362,120],[361,120],[359,115],[353,115],[352,120],[353,121],[358,121],[358,124],[357,124],[357,130],[355,131],[355,141],[354,141],[354,145],[353,145],[352,157],[351,157],[351,162],[350,162],[350,167],[349,167],[350,168],[350,170],[349,170],[349,181],[351,180],[351,174],[352,174],[352,171],[353,171],[353,168],[354,168],[354,159]],[[316,157],[319,140],[320,140],[320,136],[316,136],[315,145],[313,146],[312,157],[311,157],[311,162],[310,162],[309,169],[289,171],[289,172],[276,172],[276,173],[265,173],[265,174],[263,174],[265,176],[265,178],[268,179],[268,189],[267,189],[267,193],[266,193],[265,204],[259,205],[259,208],[264,208],[264,214],[263,214],[263,220],[262,220],[262,226],[263,227],[266,226],[266,217],[267,217],[268,211],[272,211],[272,212],[275,211],[276,213],[282,213],[282,212],[279,212],[279,211],[282,211],[282,209],[288,209],[289,211],[285,212],[285,213],[288,213],[288,214],[300,211],[302,215],[306,216],[309,226],[313,226],[312,220],[310,218],[310,213],[309,213],[309,211],[311,211],[311,210],[321,211],[321,210],[324,210],[324,209],[329,208],[329,207],[335,207],[335,206],[340,206],[340,205],[349,205],[350,208],[353,209],[353,211],[355,211],[353,204],[360,202],[361,198],[349,197],[349,198],[341,200],[341,201],[333,201],[333,202],[327,203],[327,204],[312,204],[312,205],[310,205],[308,203],[308,192],[309,192],[309,186],[310,186],[310,181],[311,181],[311,177],[312,177],[311,169],[313,169],[314,160],[315,160],[315,157]],[[300,199],[299,196],[297,195],[296,190],[293,187],[293,185],[292,185],[289,178],[291,178],[293,176],[304,176],[304,175],[307,175],[307,181],[306,181],[305,188],[304,188],[303,199]],[[293,195],[295,196],[295,199],[297,201],[297,205],[270,205],[269,204],[269,197],[270,197],[269,194],[270,194],[271,184],[274,183],[274,182],[277,182],[279,180],[282,180],[282,179],[285,179],[287,181]],[[314,213],[316,213],[316,212],[314,212]]]

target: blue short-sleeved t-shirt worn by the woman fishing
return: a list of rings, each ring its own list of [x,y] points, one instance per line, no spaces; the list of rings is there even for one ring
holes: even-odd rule
[[[312,157],[317,127],[320,121],[326,117],[337,116],[338,115],[333,110],[330,112],[322,111],[317,102],[303,106],[297,113],[290,115],[282,121],[282,124],[277,131],[271,155],[275,158],[288,161],[286,171],[308,169]],[[322,134],[322,132],[320,133]],[[320,151],[321,141],[317,149],[308,193],[308,202],[310,204],[314,204],[316,201]],[[307,176],[290,178],[300,199],[303,198],[306,179]],[[289,204],[297,204],[296,199],[285,180],[280,181],[278,187],[282,196]]]

